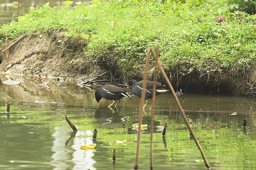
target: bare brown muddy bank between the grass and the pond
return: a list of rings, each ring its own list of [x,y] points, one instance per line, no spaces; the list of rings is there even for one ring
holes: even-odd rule
[[[82,80],[108,71],[119,81],[143,78],[144,70],[134,69],[122,74],[114,62],[108,65],[108,62],[103,61],[108,59],[95,62],[93,57],[86,58],[83,51],[86,41],[65,37],[61,31],[25,35],[16,40],[9,40],[5,47],[0,47],[0,71],[3,73],[40,74]],[[170,68],[163,63],[163,67],[176,91],[182,89],[186,93],[247,96],[256,94],[255,63],[245,62],[242,68],[232,65],[228,71],[221,72],[211,71],[215,65],[207,65],[205,71],[197,69],[190,73],[184,73],[179,65]],[[159,82],[165,82],[161,73],[158,77]],[[148,79],[151,78],[152,74],[149,73]]]

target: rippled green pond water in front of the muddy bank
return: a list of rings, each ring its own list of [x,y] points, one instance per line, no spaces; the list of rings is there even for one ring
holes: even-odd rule
[[[0,170],[131,170],[134,168],[140,98],[122,99],[111,111],[102,99],[99,109],[94,90],[76,81],[11,75],[17,85],[0,82]],[[48,82],[49,81],[49,82]],[[40,85],[45,82],[47,86]],[[212,170],[256,168],[256,116],[254,99],[236,96],[184,94],[179,97],[189,123]],[[204,170],[201,153],[172,94],[156,97],[153,169]],[[150,168],[151,100],[143,113],[139,169]],[[10,113],[6,113],[10,104]],[[87,111],[84,111],[87,108]],[[237,112],[237,115],[230,114]],[[73,132],[67,115],[78,131]],[[247,119],[247,127],[242,121]],[[167,122],[165,138],[163,126]],[[93,140],[93,130],[98,130]],[[127,140],[125,144],[116,140]],[[80,145],[95,143],[92,150]],[[112,162],[116,148],[116,163]]]

